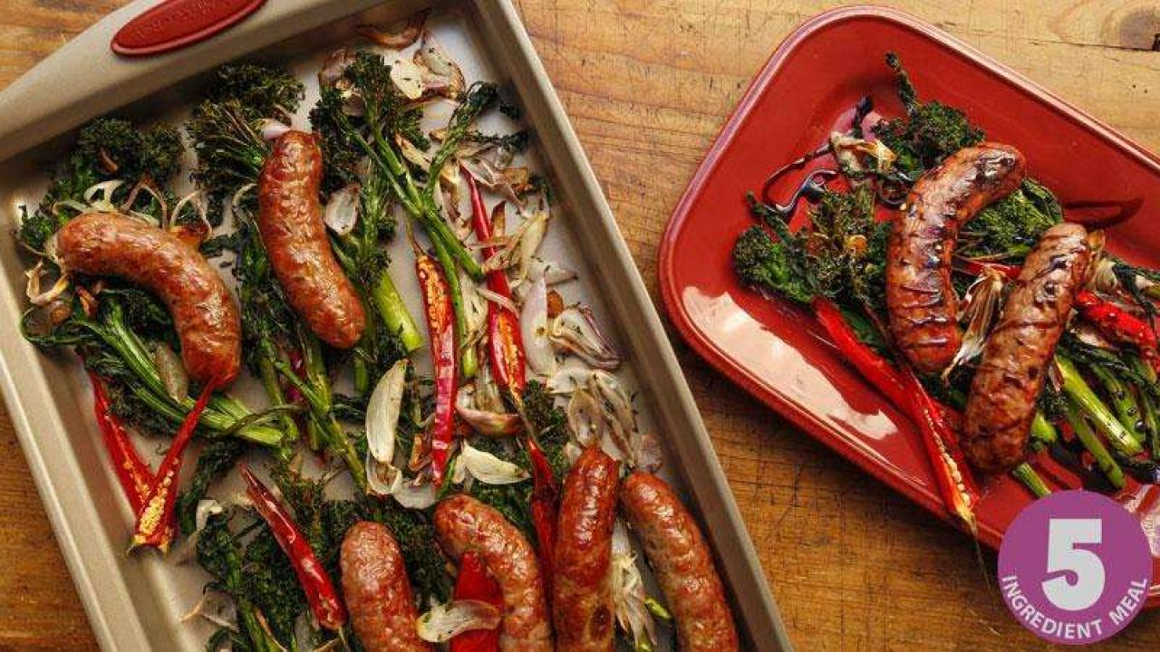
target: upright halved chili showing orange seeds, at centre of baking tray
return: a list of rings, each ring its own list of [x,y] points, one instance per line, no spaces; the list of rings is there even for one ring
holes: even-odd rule
[[[435,486],[442,486],[451,443],[455,441],[455,384],[458,357],[455,352],[455,314],[451,307],[451,288],[435,259],[418,253],[415,269],[423,294],[432,363],[435,367],[435,419],[430,426],[432,480]]]

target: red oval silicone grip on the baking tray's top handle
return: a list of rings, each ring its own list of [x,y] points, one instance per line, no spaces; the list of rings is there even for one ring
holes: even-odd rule
[[[165,0],[129,21],[113,37],[113,51],[150,57],[180,50],[229,29],[266,0]]]

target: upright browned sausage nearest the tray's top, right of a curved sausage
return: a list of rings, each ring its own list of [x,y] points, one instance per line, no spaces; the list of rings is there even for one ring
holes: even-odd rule
[[[284,133],[258,181],[258,230],[290,307],[324,342],[345,349],[362,338],[367,313],[331,251],[318,203],[321,181],[318,139]]]

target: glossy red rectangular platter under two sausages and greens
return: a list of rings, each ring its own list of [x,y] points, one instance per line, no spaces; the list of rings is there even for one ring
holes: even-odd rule
[[[906,416],[842,361],[807,311],[741,288],[730,265],[737,234],[753,224],[746,191],[760,190],[773,169],[824,144],[831,130],[848,129],[863,96],[882,115],[901,114],[887,51],[902,58],[920,99],[959,107],[988,139],[1020,147],[1029,174],[1065,205],[1138,202],[1134,217],[1108,232],[1109,248],[1153,268],[1160,267],[1160,158],[933,26],[854,7],[810,20],[777,49],[694,176],[660,253],[661,294],[681,334],[762,403],[949,520]],[[802,179],[791,176],[789,186]],[[1079,485],[1050,461],[1037,464],[1056,486]],[[1155,487],[1131,486],[1119,498],[1139,514],[1160,558],[1158,497]],[[998,546],[1030,501],[1013,479],[987,480],[979,538]],[[1158,600],[1153,586],[1151,602]]]

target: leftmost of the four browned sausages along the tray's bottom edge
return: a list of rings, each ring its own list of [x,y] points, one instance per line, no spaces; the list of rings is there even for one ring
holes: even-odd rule
[[[415,628],[403,553],[386,526],[361,521],[347,530],[339,559],[342,596],[367,652],[428,652]]]

